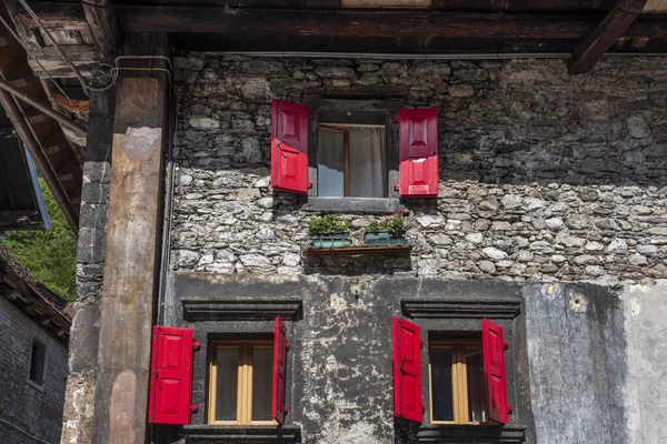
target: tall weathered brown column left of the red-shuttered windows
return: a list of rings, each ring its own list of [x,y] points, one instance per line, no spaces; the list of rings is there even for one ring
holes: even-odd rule
[[[167,56],[163,34],[126,34],[126,56]],[[126,68],[168,68],[158,59],[123,59]],[[119,71],[109,192],[109,226],[100,306],[93,442],[143,444],[150,340],[160,252],[168,77]]]

